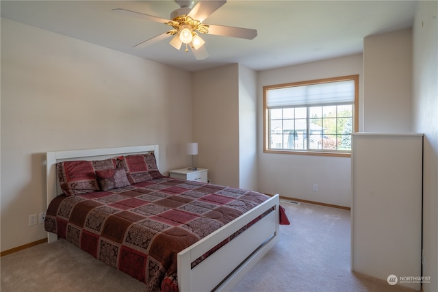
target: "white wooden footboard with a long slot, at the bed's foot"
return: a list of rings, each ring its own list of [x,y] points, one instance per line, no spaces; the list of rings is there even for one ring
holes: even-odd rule
[[[275,210],[192,269],[191,264],[265,211]],[[279,195],[178,253],[179,291],[229,291],[279,240]]]

